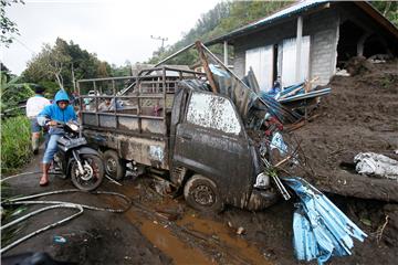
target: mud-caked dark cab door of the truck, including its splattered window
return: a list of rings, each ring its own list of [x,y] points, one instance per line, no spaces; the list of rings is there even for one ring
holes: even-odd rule
[[[252,161],[230,99],[191,93],[182,123],[177,125],[174,162],[211,178],[228,202],[243,206],[251,192]]]

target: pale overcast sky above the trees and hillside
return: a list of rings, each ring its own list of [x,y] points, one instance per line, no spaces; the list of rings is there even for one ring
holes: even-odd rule
[[[171,45],[221,0],[24,0],[6,8],[20,35],[1,46],[1,62],[21,74],[44,43],[57,36],[96,53],[109,64],[148,60],[161,41]]]

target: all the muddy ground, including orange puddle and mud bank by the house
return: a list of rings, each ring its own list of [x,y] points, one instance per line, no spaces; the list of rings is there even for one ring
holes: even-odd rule
[[[312,113],[318,116],[294,131],[313,171],[306,178],[320,189],[339,193],[327,194],[369,235],[365,243],[355,242],[352,256],[333,258],[329,264],[396,264],[398,205],[394,198],[398,183],[364,180],[354,173],[350,163],[359,151],[396,158],[392,151],[398,149],[397,70],[397,63],[392,63],[376,65],[371,72],[354,77],[335,77],[332,94]],[[24,171],[38,171],[38,159]],[[46,188],[40,188],[38,182],[39,174],[9,181],[15,194],[72,188],[70,180],[54,176]],[[221,214],[209,215],[190,209],[181,198],[159,195],[150,178],[127,177],[122,183],[118,187],[106,180],[100,190],[118,191],[132,198],[133,205],[127,212],[85,210],[77,219],[21,243],[3,256],[44,251],[59,261],[80,264],[305,264],[294,258],[291,202],[281,200],[261,212],[228,208]],[[389,202],[358,199],[386,197]],[[123,206],[114,198],[94,194],[49,199]],[[42,213],[29,220],[18,236],[71,212]],[[54,235],[66,242],[55,243]]]

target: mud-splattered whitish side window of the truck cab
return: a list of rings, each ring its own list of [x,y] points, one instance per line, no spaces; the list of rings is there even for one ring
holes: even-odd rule
[[[239,135],[241,125],[230,100],[224,97],[193,93],[188,106],[187,121],[201,127]]]

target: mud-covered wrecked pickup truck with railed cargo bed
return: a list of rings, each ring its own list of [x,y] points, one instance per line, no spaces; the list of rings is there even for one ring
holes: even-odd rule
[[[84,135],[103,152],[111,177],[123,178],[126,162],[165,171],[198,210],[273,204],[277,192],[235,105],[203,80],[164,66],[137,77],[78,81],[81,98],[91,99],[90,106],[80,100]],[[84,95],[92,89],[97,95]]]

